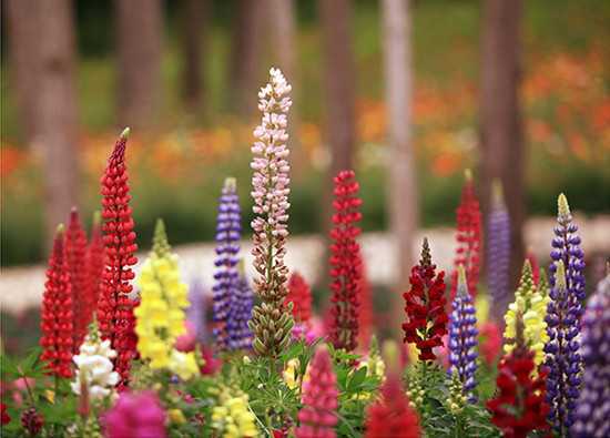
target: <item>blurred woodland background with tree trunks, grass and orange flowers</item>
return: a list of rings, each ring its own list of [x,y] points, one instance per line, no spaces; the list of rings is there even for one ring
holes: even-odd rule
[[[4,278],[72,205],[90,225],[123,126],[141,247],[156,217],[174,245],[213,241],[227,175],[245,227],[272,65],[294,90],[291,232],[327,228],[329,175],[354,167],[368,254],[393,254],[374,281],[404,286],[421,230],[450,263],[466,167],[484,212],[504,183],[514,273],[528,245],[548,253],[561,191],[610,251],[608,1],[2,0],[1,20]]]

